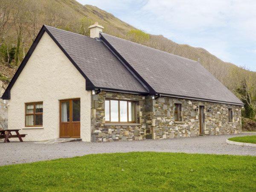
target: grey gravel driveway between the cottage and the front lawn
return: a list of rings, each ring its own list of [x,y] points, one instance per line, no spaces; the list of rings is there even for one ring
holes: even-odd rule
[[[227,138],[252,134],[256,133],[201,136],[165,140],[123,141],[111,143],[0,143],[0,150],[2,151],[2,154],[0,156],[0,165],[75,157],[85,154],[130,151],[162,151],[256,156],[255,147],[229,145],[226,143]]]

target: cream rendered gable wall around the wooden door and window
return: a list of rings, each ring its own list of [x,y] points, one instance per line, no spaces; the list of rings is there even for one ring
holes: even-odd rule
[[[8,129],[22,129],[25,141],[59,138],[59,100],[80,98],[81,139],[90,141],[90,97],[84,77],[44,32],[11,89]],[[43,102],[43,127],[25,127],[26,102]]]

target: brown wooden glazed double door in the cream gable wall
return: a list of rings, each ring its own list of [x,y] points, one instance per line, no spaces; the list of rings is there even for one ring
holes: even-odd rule
[[[60,137],[80,138],[80,99],[60,101]]]

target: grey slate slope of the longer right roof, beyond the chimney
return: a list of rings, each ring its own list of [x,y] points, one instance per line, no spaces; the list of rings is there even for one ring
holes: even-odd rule
[[[197,61],[101,35],[157,93],[243,104]]]

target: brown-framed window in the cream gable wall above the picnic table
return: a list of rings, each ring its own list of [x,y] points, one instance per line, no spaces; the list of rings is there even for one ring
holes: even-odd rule
[[[25,104],[25,126],[43,126],[43,102]]]

